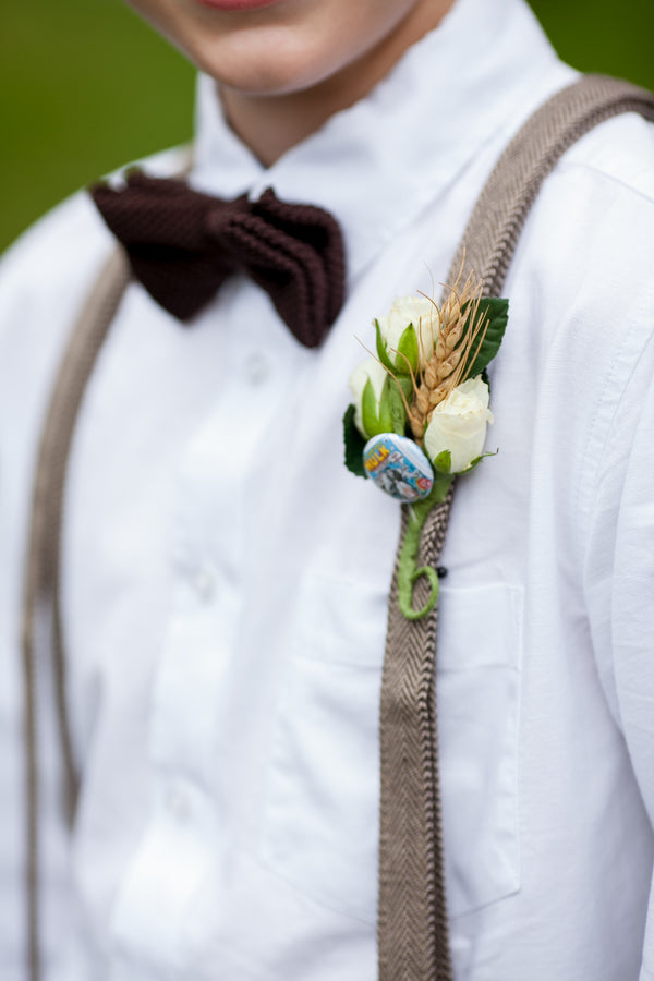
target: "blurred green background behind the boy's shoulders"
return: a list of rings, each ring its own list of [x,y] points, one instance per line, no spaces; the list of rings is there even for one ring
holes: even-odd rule
[[[1,0],[0,249],[46,208],[191,134],[193,71],[121,0]],[[654,0],[533,0],[585,71],[654,89]]]

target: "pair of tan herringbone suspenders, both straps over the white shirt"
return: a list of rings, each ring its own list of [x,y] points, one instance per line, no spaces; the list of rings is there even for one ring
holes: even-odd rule
[[[561,154],[602,120],[637,111],[654,119],[654,97],[626,83],[589,76],[555,96],[520,131],[493,172],[463,243],[467,264],[498,295],[520,230],[544,178]],[[456,256],[453,280],[460,265]],[[77,779],[65,705],[65,661],[59,616],[59,562],[65,470],[75,420],[97,354],[129,279],[112,256],[73,331],[44,428],[25,573],[23,663],[26,736],[26,886],[31,981],[39,981],[39,767],[35,621],[52,615],[52,663],[62,759],[71,816]],[[451,494],[425,525],[420,565],[436,566]],[[403,538],[405,528],[402,526]],[[400,543],[401,544],[401,543]],[[421,603],[421,584],[415,602]],[[408,621],[397,606],[397,568],[389,601],[380,708],[382,814],[379,846],[379,981],[447,981],[452,977],[443,873],[434,670],[437,610]]]

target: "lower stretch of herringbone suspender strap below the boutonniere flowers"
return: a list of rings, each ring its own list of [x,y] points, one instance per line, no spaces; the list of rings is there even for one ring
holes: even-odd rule
[[[453,487],[427,517],[417,566],[438,564]],[[402,540],[408,512],[402,516]],[[449,981],[434,671],[438,608],[408,620],[398,607],[398,558],[389,598],[382,681],[382,808],[379,828],[379,978]],[[414,591],[416,609],[429,595]],[[408,772],[408,777],[407,777]],[[424,892],[423,892],[424,891]],[[398,943],[400,938],[400,943]]]

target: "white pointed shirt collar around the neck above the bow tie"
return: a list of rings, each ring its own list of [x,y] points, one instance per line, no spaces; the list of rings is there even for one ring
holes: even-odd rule
[[[327,208],[341,223],[351,278],[498,130],[521,121],[524,93],[555,62],[523,0],[457,0],[366,98],[268,169],[230,130],[211,78],[201,76],[190,182],[221,197],[272,187]]]

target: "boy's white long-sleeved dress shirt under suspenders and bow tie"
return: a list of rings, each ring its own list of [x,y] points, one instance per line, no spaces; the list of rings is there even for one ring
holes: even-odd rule
[[[574,77],[522,0],[458,0],[265,170],[199,82],[191,183],[329,208],[319,351],[231,279],[190,327],[129,287],[66,488],[83,775],[51,702],[47,981],[373,981],[378,698],[399,506],[342,462],[347,380],[396,295],[438,298],[519,124]],[[174,154],[148,162],[170,173]],[[112,249],[85,195],[7,257],[0,316],[0,979],[24,979],[19,623],[38,432]],[[577,144],[529,218],[487,449],[443,556],[437,698],[457,981],[653,981],[654,131]],[[654,912],[652,913],[654,917]]]

